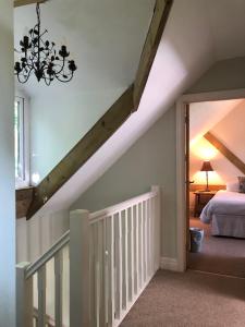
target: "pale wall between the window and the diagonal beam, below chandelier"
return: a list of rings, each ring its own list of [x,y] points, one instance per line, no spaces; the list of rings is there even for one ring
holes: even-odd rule
[[[30,174],[44,179],[121,96],[124,88],[30,99]]]

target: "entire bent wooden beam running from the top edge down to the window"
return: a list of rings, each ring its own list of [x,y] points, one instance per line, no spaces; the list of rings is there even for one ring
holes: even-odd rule
[[[89,132],[37,185],[26,218],[33,217],[42,205],[110,138],[138,105],[161,40],[173,0],[156,0],[155,13],[143,48],[133,85],[111,106]]]

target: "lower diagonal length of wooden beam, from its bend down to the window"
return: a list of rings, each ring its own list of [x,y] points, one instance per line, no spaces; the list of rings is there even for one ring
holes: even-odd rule
[[[33,203],[26,216],[27,219],[29,219],[131,116],[134,110],[133,94],[134,87],[132,85],[37,185]]]

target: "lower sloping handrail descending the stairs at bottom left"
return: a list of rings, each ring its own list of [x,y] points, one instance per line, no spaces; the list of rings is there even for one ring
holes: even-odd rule
[[[25,278],[32,277],[47,262],[49,262],[56,253],[63,249],[70,241],[70,230],[68,230],[44,255],[41,255],[34,264],[27,267]]]

